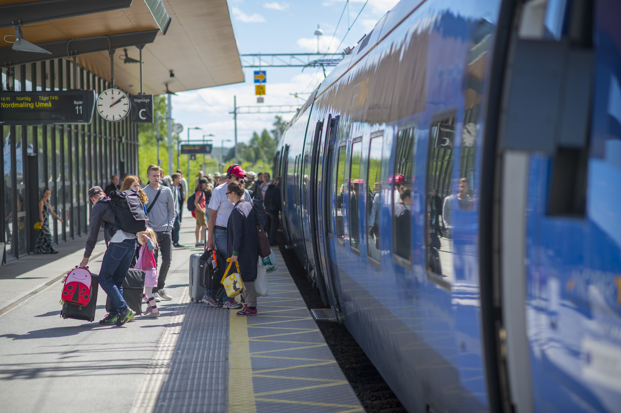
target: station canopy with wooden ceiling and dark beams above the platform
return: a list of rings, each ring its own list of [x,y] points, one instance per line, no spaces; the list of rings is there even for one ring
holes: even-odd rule
[[[23,38],[52,54],[12,50],[16,24]],[[0,65],[78,53],[77,63],[130,93],[160,94],[243,82],[226,0],[0,0]],[[174,77],[171,77],[171,72]]]

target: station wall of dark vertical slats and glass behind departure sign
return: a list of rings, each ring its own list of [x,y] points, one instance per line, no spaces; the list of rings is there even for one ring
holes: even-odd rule
[[[100,93],[110,87],[83,67],[74,73],[73,63],[64,58],[1,69],[1,90],[11,90],[9,73],[15,79],[12,90],[17,91],[72,89],[74,76],[81,89]],[[65,221],[50,215],[53,240],[62,243],[88,233],[88,188],[104,188],[111,175],[138,175],[138,128],[129,117],[113,123],[94,113],[90,124],[0,126],[0,147],[3,263],[34,251],[37,231],[32,228],[39,215],[34,200],[41,198],[44,188],[52,191],[50,207]],[[35,187],[28,185],[35,181]]]

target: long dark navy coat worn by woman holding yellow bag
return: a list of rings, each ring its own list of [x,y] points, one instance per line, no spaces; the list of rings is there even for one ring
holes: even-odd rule
[[[227,257],[237,255],[243,281],[256,279],[259,238],[252,203],[241,199],[233,207],[227,224]],[[235,264],[233,264],[235,266]]]

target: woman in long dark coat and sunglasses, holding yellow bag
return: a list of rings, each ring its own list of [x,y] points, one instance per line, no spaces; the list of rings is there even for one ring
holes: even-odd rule
[[[227,256],[238,261],[246,305],[238,316],[256,315],[256,264],[259,259],[259,240],[256,233],[255,211],[252,202],[245,200],[243,181],[234,181],[227,187],[227,198],[235,204],[227,224]]]

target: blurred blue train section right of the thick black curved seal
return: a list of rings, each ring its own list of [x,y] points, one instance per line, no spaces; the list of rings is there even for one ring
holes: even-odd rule
[[[615,412],[621,8],[612,0],[524,6],[511,40],[495,174],[505,406]]]

